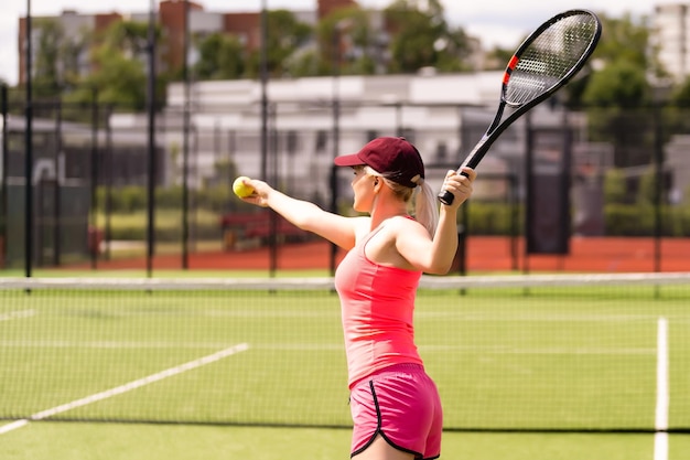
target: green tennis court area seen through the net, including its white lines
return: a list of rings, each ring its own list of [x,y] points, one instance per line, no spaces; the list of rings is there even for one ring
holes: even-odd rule
[[[349,427],[327,282],[63,281],[0,289],[0,437],[24,420]],[[416,313],[451,438],[690,429],[689,285],[468,281],[422,288]]]

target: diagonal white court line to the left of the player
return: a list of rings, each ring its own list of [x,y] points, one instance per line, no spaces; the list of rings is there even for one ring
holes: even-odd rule
[[[105,392],[96,393],[95,395],[87,396],[82,399],[73,400],[72,403],[63,404],[61,406],[53,407],[47,410],[42,410],[29,417],[28,419],[17,420],[11,424],[8,424],[3,427],[0,427],[0,435],[11,431],[13,429],[21,428],[25,426],[29,421],[42,420],[44,418],[52,417],[54,415],[75,409],[77,407],[86,406],[91,403],[96,403],[103,399],[108,399],[112,396],[121,395],[122,393],[130,392],[132,389],[142,387],[144,385],[152,384],[154,382],[162,381],[163,378],[172,377],[173,375],[182,374],[183,372],[192,371],[196,367],[201,367],[206,364],[211,364],[213,362],[223,360],[224,357],[237,354],[239,352],[244,352],[249,350],[249,344],[239,343],[235,346],[230,346],[229,349],[220,350],[217,353],[209,354],[204,357],[200,357],[198,360],[190,361],[188,363],[181,364],[175,367],[168,368],[165,371],[159,372],[157,374],[149,375],[148,377],[139,378],[137,381],[127,383],[125,385],[117,386],[115,388],[107,389]]]

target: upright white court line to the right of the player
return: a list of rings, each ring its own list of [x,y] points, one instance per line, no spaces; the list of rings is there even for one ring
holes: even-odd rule
[[[668,459],[668,320],[657,325],[657,407],[655,416],[654,460]]]

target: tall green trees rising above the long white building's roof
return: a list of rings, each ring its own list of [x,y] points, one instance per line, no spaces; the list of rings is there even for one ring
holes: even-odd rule
[[[335,63],[338,72],[357,75],[416,73],[427,66],[440,72],[470,68],[468,38],[462,28],[446,22],[439,0],[391,0],[384,18],[382,29],[389,32],[389,42],[384,40],[382,29],[374,29],[370,11],[358,6],[336,9],[322,18],[315,30],[291,11],[269,10],[269,73],[278,78],[331,75]],[[587,63],[590,72],[585,69],[568,86],[565,103],[579,106],[586,100],[629,107],[635,101],[647,101],[645,77],[665,75],[657,50],[650,46],[647,18],[611,18],[603,13],[600,18],[603,35],[594,58]],[[56,21],[36,23],[41,30],[35,57],[37,97],[63,94],[67,101],[84,103],[90,100],[96,88],[99,101],[121,101],[129,110],[144,106],[148,22],[116,21],[105,34],[84,32],[77,38],[66,36]],[[157,28],[155,33],[161,38],[163,32]],[[312,40],[313,45],[306,46]],[[197,38],[195,46],[200,53],[194,67],[198,79],[255,78],[260,73],[260,50],[247,50],[237,36],[214,33]],[[85,50],[91,50],[89,65],[94,71],[88,76],[79,75]],[[503,68],[510,53],[511,50],[495,50],[487,60],[489,68]],[[603,69],[593,72],[595,67]],[[164,99],[165,81],[182,75],[179,68],[163,74],[159,69],[158,100]],[[675,100],[690,104],[689,92],[679,87]]]

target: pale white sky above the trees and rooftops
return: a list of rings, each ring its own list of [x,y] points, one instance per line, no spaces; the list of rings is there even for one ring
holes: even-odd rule
[[[310,10],[316,0],[195,0],[206,11],[258,11],[266,8]],[[358,0],[364,8],[385,8],[392,0]],[[515,47],[540,23],[560,11],[584,8],[616,18],[650,15],[660,3],[687,3],[681,0],[441,0],[446,20],[482,39],[483,45]],[[31,3],[32,17],[60,15],[63,10],[78,13],[144,12],[150,0],[2,0],[0,14],[0,81],[14,85],[18,79],[19,18],[25,17]]]

